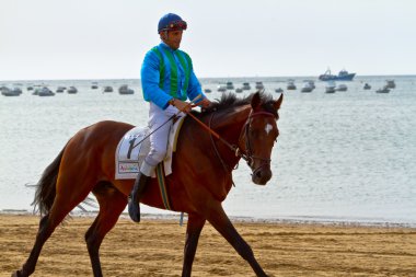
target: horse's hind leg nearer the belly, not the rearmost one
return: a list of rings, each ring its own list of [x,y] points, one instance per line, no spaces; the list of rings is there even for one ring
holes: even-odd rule
[[[100,262],[100,245],[105,234],[112,230],[119,215],[127,205],[127,197],[113,187],[111,183],[100,183],[93,191],[100,211],[92,226],[85,233],[85,242],[90,254],[94,277],[103,276]]]

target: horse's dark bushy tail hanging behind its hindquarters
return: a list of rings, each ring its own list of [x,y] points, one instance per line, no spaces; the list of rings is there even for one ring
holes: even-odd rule
[[[37,182],[35,199],[32,205],[34,210],[38,210],[42,216],[47,215],[54,204],[56,196],[56,182],[59,173],[59,165],[62,160],[63,151],[60,151],[57,158],[46,168],[39,182]]]

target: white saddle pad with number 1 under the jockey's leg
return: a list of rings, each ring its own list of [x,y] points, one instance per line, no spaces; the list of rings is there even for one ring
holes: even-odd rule
[[[167,153],[163,160],[166,176],[172,173],[172,157],[173,152],[176,150],[176,139],[184,118],[185,116],[178,118],[173,125],[173,128],[171,128]],[[149,132],[150,130],[148,127],[135,127],[127,131],[118,142],[115,154],[116,180],[136,178],[141,163],[150,151],[150,139],[147,137]],[[154,176],[153,173],[152,177]]]

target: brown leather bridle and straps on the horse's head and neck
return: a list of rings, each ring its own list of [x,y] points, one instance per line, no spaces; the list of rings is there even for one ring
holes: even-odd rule
[[[213,114],[215,113],[211,114],[211,117],[210,117],[210,120],[209,120],[209,128],[211,128],[211,123],[212,123]],[[253,165],[254,160],[261,160],[261,161],[263,161],[262,164],[258,168],[256,168],[255,170],[253,170],[253,174],[255,174],[257,171],[259,171],[264,165],[269,165],[270,161],[271,161],[270,159],[266,159],[266,158],[254,155],[253,151],[252,151],[252,142],[250,140],[250,130],[251,130],[252,119],[253,119],[253,117],[262,116],[262,115],[263,116],[271,116],[271,117],[276,118],[276,116],[273,113],[269,113],[269,112],[263,112],[263,111],[261,111],[261,112],[253,112],[253,109],[250,112],[250,115],[249,115],[247,119],[245,120],[244,126],[241,129],[241,134],[240,134],[240,137],[239,137],[239,142],[241,142],[241,140],[243,138],[243,134],[245,135],[245,151],[242,150],[242,149],[240,149],[238,146],[231,145],[230,142],[228,142],[223,138],[219,137],[219,139],[232,152],[234,152],[235,157],[240,157],[244,161],[246,161],[250,168]],[[231,170],[229,169],[229,166],[227,165],[227,163],[223,161],[223,159],[221,158],[221,155],[220,155],[220,153],[219,153],[219,151],[217,149],[217,146],[216,146],[216,143],[213,141],[213,138],[212,138],[212,134],[210,134],[210,139],[211,139],[211,143],[213,146],[215,152],[216,152],[218,159],[220,160],[222,166],[224,168],[226,172],[230,172]]]

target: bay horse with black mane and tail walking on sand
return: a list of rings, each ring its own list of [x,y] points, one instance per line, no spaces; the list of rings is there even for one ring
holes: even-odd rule
[[[208,221],[250,264],[257,276],[267,276],[250,245],[238,233],[221,203],[233,184],[232,171],[244,158],[252,181],[265,185],[271,177],[270,155],[276,138],[278,109],[275,101],[256,92],[245,99],[224,94],[207,109],[193,112],[217,132],[221,140],[204,130],[189,116],[185,118],[173,158],[173,173],[165,182],[175,211],[188,213],[182,276],[190,276],[200,232]],[[115,180],[115,152],[122,137],[134,126],[100,122],[79,130],[46,168],[36,185],[34,205],[41,212],[39,228],[32,252],[14,277],[34,273],[45,242],[67,215],[96,197],[99,213],[85,233],[93,275],[103,276],[99,250],[105,234],[125,209],[134,180]],[[141,203],[163,209],[157,178],[152,178]]]

